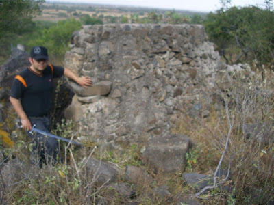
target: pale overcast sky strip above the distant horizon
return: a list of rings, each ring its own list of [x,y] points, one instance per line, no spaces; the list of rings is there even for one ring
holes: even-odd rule
[[[221,8],[220,0],[46,0],[48,2],[97,3],[108,5],[134,5],[149,8],[166,8],[175,10],[193,10],[214,12]],[[258,5],[264,7],[264,0],[232,0],[232,5]]]

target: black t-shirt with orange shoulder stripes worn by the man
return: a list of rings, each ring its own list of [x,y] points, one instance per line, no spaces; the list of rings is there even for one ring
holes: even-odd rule
[[[62,77],[64,68],[48,65],[41,75],[26,68],[16,75],[10,96],[21,100],[28,117],[47,115],[51,109],[53,78]]]

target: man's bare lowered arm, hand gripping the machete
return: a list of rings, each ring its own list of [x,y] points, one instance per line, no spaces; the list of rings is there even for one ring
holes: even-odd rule
[[[27,115],[23,110],[21,101],[10,96],[10,102],[12,103],[12,106],[14,107],[17,115],[19,115],[19,117],[21,118],[23,129],[26,131],[31,131],[32,124],[30,123],[29,118],[27,118]]]

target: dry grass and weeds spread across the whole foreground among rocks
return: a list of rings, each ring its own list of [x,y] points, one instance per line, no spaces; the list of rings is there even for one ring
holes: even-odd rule
[[[186,171],[212,175],[222,154],[221,169],[227,171],[230,167],[225,185],[233,191],[221,191],[219,186],[209,189],[201,195],[204,204],[266,204],[274,198],[274,143],[262,143],[256,136],[242,131],[243,125],[248,123],[273,124],[273,73],[266,72],[265,76],[266,79],[262,79],[261,74],[245,75],[244,78],[242,74],[235,74],[234,79],[238,83],[224,95],[229,111],[212,109],[208,118],[199,119],[184,115],[173,128],[173,133],[188,135],[195,143],[188,155]],[[228,135],[228,146],[224,152]],[[89,148],[66,148],[71,161],[55,167],[34,169],[32,176],[17,184],[4,197],[10,197],[9,202],[15,204],[96,204],[99,200],[107,204],[175,204],[179,196],[195,195],[195,190],[186,186],[182,173],[166,176],[150,172],[140,160],[140,147],[132,145],[125,152],[100,152],[103,160],[115,163],[121,169],[135,165],[151,174],[152,184],[138,180],[130,188],[135,191],[132,198],[111,187],[99,187],[94,179],[88,178],[80,163],[83,156],[90,155],[92,150]],[[217,179],[217,185],[219,182]],[[170,195],[158,195],[155,189],[162,185],[166,186]]]

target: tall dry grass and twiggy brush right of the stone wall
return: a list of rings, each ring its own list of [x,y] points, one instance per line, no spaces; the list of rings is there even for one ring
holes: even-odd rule
[[[264,72],[264,75],[257,73],[247,76],[246,72],[234,75],[235,87],[224,95],[229,106],[228,113],[212,110],[209,118],[198,120],[184,116],[173,130],[175,133],[188,135],[195,142],[195,148],[199,148],[199,154],[190,155],[195,156],[197,161],[193,163],[193,159],[190,159],[190,171],[205,173],[216,169],[231,129],[221,167],[224,170],[230,167],[229,186],[234,188],[234,192],[223,197],[229,198],[231,204],[265,204],[274,198],[274,139],[271,135],[274,120],[274,74],[271,71]],[[232,120],[234,124],[230,127],[229,121]],[[257,135],[248,135],[243,130],[245,124],[269,124],[269,138],[258,139],[263,130]],[[212,194],[209,193],[207,197],[210,195]],[[217,196],[204,202],[212,203]]]

